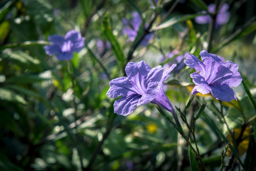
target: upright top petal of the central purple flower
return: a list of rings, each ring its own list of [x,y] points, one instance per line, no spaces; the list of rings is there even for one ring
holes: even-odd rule
[[[143,95],[147,88],[144,83],[150,71],[151,68],[143,60],[138,63],[129,62],[125,67],[125,72],[129,81],[132,83],[133,87],[137,89],[137,92],[140,93],[140,95]]]

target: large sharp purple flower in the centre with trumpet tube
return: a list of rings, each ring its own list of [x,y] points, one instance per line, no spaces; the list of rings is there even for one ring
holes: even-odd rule
[[[114,103],[114,111],[118,115],[127,116],[138,105],[147,103],[159,104],[166,110],[175,113],[172,104],[164,93],[163,82],[169,73],[176,67],[173,64],[167,71],[161,66],[151,70],[144,61],[129,62],[125,67],[127,76],[116,78],[109,83],[107,95],[117,99]]]

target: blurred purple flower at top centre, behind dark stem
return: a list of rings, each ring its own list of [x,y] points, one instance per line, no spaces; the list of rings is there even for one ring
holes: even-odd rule
[[[140,29],[141,25],[141,18],[139,13],[133,12],[132,13],[132,20],[128,21],[127,19],[122,19],[124,28],[123,28],[123,36],[127,35],[128,39],[133,42],[137,36],[137,32]],[[146,25],[147,27],[147,25]],[[145,38],[141,41],[141,46],[147,46],[148,42],[151,41],[153,38],[153,34],[147,34]]]

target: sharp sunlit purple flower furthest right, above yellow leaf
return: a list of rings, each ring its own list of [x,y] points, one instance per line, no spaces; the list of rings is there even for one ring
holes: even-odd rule
[[[196,84],[192,90],[192,95],[198,92],[203,95],[211,92],[217,100],[237,100],[235,92],[230,87],[237,87],[242,82],[242,77],[238,72],[238,64],[231,61],[224,63],[221,58],[209,54],[205,50],[200,52],[202,62],[189,53],[185,56],[185,64],[198,71],[190,74]]]

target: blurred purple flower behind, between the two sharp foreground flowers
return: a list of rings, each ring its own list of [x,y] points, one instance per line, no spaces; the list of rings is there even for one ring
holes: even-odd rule
[[[177,55],[178,53],[180,53],[180,52],[177,50],[169,52],[169,54],[167,55],[167,58],[169,58],[169,59],[173,58],[173,56]],[[176,63],[177,66],[174,68],[173,72],[178,73],[182,70],[182,68],[184,68],[186,66],[184,63],[184,59],[185,59],[184,55],[178,55],[171,62],[164,64],[163,68],[164,68],[164,70],[167,70],[170,67],[170,65]],[[164,60],[165,60],[165,58],[162,59],[162,61],[164,61]]]

